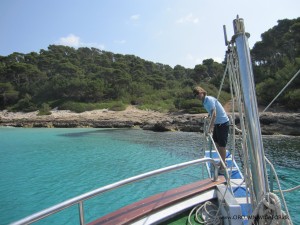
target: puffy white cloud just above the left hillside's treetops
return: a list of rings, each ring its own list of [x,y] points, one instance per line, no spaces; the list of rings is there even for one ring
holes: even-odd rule
[[[65,46],[70,46],[74,48],[79,48],[79,47],[94,47],[103,50],[105,46],[103,44],[99,43],[85,43],[80,40],[80,37],[74,35],[74,34],[69,34],[66,37],[61,37],[58,41],[59,45],[65,45]]]

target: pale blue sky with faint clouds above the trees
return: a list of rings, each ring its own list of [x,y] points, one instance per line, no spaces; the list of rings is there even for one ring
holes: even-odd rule
[[[1,0],[0,55],[60,44],[194,68],[223,60],[223,25],[230,39],[237,14],[253,47],[278,20],[300,17],[300,0]]]

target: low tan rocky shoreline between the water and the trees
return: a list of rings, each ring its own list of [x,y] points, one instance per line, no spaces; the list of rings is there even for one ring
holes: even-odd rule
[[[51,115],[38,116],[38,112],[12,113],[0,111],[0,126],[48,128],[132,128],[153,131],[203,132],[207,114],[159,113],[128,107],[124,111],[94,110],[74,113],[53,110]],[[238,125],[239,118],[235,121]],[[300,135],[300,113],[260,114],[262,134]]]

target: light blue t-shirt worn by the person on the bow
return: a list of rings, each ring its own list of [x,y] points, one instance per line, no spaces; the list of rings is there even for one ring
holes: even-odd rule
[[[211,116],[213,109],[216,109],[215,124],[222,124],[222,123],[226,123],[229,121],[229,118],[228,118],[223,106],[215,97],[205,96],[204,101],[203,101],[203,106],[206,109],[206,111],[209,113],[210,116]]]

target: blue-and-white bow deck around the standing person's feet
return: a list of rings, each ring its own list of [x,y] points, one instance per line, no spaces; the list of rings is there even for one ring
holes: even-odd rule
[[[218,153],[216,151],[205,151],[205,157],[215,159],[219,162]],[[244,176],[239,169],[235,160],[232,160],[231,154],[229,151],[226,152],[226,163],[227,163],[227,171],[230,176],[230,184],[232,187],[232,193],[238,204],[241,206],[242,216],[243,216],[243,224],[248,224],[248,216],[252,214],[252,207],[250,200],[247,195],[250,197],[249,192],[247,192],[246,184],[244,180]],[[211,173],[211,165],[210,163],[206,163],[209,176],[212,177]]]

